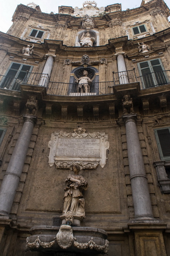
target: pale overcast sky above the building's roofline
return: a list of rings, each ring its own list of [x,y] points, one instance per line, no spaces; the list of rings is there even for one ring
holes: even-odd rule
[[[85,1],[85,0],[84,0]],[[58,13],[58,6],[65,5],[65,6],[72,6],[74,7],[82,7],[82,3],[84,1],[80,0],[60,0],[60,1],[54,1],[54,0],[35,0],[35,3],[40,6],[40,9],[43,13]],[[121,3],[122,4],[122,11],[126,10],[127,8],[133,9],[137,8],[141,5],[142,0],[120,0],[113,2],[111,0],[105,0],[101,1],[98,0],[97,6],[98,7],[106,7],[107,5],[112,5],[115,3]],[[0,7],[0,31],[7,32],[7,30],[12,25],[12,15],[17,7],[22,3],[23,5],[27,5],[29,2],[28,0],[3,0],[1,1],[1,7]],[[165,0],[165,3],[170,8],[170,0]]]

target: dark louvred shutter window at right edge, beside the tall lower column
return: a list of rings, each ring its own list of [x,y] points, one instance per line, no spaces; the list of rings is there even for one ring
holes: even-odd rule
[[[154,131],[161,160],[170,160],[170,127]]]

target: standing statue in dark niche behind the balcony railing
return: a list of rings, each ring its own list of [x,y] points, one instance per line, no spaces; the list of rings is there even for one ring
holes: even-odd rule
[[[87,93],[90,92],[90,83],[92,83],[92,80],[87,76],[88,72],[86,70],[83,71],[83,77],[80,77],[78,80],[75,80],[75,83],[78,83],[77,85],[77,92],[80,93]]]

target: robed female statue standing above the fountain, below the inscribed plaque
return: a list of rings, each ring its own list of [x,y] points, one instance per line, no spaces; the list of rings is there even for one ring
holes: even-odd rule
[[[83,190],[87,190],[88,185],[86,180],[78,175],[80,172],[80,166],[78,164],[72,165],[72,171],[74,174],[71,174],[65,180],[67,186],[65,187],[64,194],[64,207],[63,215],[67,216],[73,215],[74,217],[84,218],[84,199],[82,195]]]

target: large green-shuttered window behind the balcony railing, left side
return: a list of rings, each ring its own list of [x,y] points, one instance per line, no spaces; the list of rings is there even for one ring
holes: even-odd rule
[[[30,72],[32,68],[33,67],[29,65],[12,62],[0,84],[0,88],[20,91],[20,84],[25,82],[24,78],[27,74],[27,71]]]

